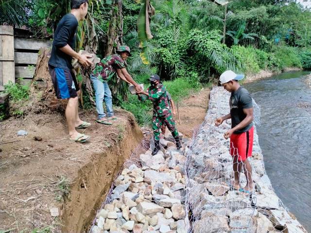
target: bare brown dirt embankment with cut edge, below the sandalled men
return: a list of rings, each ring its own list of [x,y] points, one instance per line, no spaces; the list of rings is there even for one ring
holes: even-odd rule
[[[95,116],[90,111],[82,119],[94,122]],[[133,115],[119,111],[117,116],[113,126],[94,123],[79,130],[91,135],[84,145],[69,141],[60,114],[1,122],[0,232],[84,232],[143,137]],[[21,129],[28,135],[17,136]],[[59,216],[52,216],[57,210]]]

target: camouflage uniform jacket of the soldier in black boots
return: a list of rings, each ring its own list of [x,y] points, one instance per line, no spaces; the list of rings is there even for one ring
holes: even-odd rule
[[[147,89],[149,93],[148,97],[145,95],[140,96],[140,100],[144,101],[147,98],[152,100],[154,104],[154,115],[155,116],[167,116],[172,114],[168,99],[168,92],[162,83],[157,84],[154,88],[149,87]]]

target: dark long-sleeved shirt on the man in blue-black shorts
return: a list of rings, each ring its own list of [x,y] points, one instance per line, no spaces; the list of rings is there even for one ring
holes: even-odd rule
[[[54,33],[49,65],[63,69],[72,68],[72,57],[59,50],[59,48],[69,45],[74,50],[77,28],[78,20],[72,14],[67,14],[59,21]]]

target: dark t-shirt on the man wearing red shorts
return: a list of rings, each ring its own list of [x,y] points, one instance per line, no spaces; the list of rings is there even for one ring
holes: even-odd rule
[[[234,128],[246,117],[243,113],[243,109],[253,108],[253,99],[248,91],[240,86],[240,88],[231,93],[230,97],[230,114],[231,114],[231,128]],[[249,131],[252,128],[253,122],[244,127],[241,130],[237,130],[234,133],[239,134]]]

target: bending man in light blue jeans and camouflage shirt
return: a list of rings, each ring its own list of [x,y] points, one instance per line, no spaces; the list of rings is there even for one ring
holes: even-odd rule
[[[141,91],[141,87],[133,80],[126,70],[126,59],[131,56],[128,46],[120,46],[117,54],[104,57],[100,63],[96,64],[91,74],[91,80],[95,89],[96,110],[98,113],[99,123],[111,125],[110,120],[116,120],[112,110],[112,96],[108,86],[108,81],[117,74],[126,83],[133,84],[137,92]],[[106,104],[107,115],[104,112],[103,100]]]

